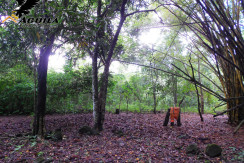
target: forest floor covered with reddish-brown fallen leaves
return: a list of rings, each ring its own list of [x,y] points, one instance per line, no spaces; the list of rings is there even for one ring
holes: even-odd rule
[[[244,128],[235,127],[226,116],[213,118],[183,113],[182,126],[163,126],[165,114],[106,114],[100,135],[79,135],[81,126],[92,126],[92,114],[46,116],[47,131],[62,129],[62,141],[30,139],[32,117],[0,117],[0,162],[242,162]],[[124,135],[112,132],[115,126]],[[186,154],[186,147],[197,144],[198,155]],[[218,144],[222,156],[210,158],[207,144]],[[48,161],[49,160],[49,161]]]

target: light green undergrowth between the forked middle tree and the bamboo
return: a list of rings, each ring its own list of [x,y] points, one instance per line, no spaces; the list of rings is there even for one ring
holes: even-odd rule
[[[173,92],[171,89],[171,77],[167,77],[166,74],[161,74],[159,82],[156,85],[158,88],[157,98],[157,111],[166,111],[169,107],[173,106]],[[107,111],[115,112],[115,109],[119,109],[123,112],[152,112],[153,111],[153,95],[152,95],[152,83],[150,82],[150,76],[144,75],[132,75],[126,79],[122,74],[114,75],[113,82],[115,86],[107,98]],[[181,104],[182,112],[197,113],[197,96],[194,85],[189,82],[177,78],[177,96],[178,102],[185,96],[185,100]],[[205,113],[213,113],[213,108],[218,104],[218,99],[209,93],[204,93],[205,99]],[[218,108],[220,109],[220,108]]]

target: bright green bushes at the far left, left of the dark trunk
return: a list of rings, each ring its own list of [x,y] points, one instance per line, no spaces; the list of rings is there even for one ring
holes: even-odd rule
[[[33,111],[34,83],[25,65],[0,74],[0,114],[29,114]]]

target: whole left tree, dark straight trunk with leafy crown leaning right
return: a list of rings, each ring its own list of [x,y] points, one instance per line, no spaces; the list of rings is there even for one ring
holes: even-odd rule
[[[85,3],[85,2],[84,2]],[[83,5],[84,3],[81,3]],[[63,10],[61,12],[60,8]],[[77,44],[77,36],[74,36],[77,31],[84,29],[84,24],[80,25],[77,22],[84,21],[83,11],[77,10],[78,2],[71,3],[69,0],[63,1],[42,1],[42,8],[38,12],[48,17],[48,13],[53,13],[54,17],[59,20],[54,28],[41,28],[40,36],[40,58],[38,65],[38,95],[37,107],[33,123],[33,134],[44,135],[44,116],[46,111],[46,83],[47,83],[47,68],[49,55],[60,48],[63,44],[69,42]],[[70,10],[69,10],[70,9]],[[78,15],[78,17],[77,17]],[[36,31],[37,32],[37,31]],[[79,32],[78,32],[79,33]],[[66,35],[64,35],[66,34]],[[61,44],[56,45],[55,39],[61,36]],[[69,36],[67,38],[67,36]]]

